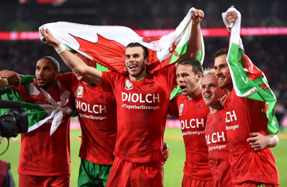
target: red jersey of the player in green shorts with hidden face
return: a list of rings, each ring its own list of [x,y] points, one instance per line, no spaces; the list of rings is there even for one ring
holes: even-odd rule
[[[58,79],[75,98],[82,130],[79,156],[96,164],[112,165],[117,136],[114,95],[103,92],[98,85],[85,85],[74,73],[62,74]]]

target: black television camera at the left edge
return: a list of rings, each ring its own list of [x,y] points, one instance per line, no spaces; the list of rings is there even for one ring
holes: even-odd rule
[[[19,101],[5,101],[0,99],[0,108],[16,108],[7,110],[0,116],[0,136],[16,137],[18,133],[28,131],[28,113],[21,109]]]

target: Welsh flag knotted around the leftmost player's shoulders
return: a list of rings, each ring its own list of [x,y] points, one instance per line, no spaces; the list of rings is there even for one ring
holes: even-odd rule
[[[25,77],[33,81],[33,76]],[[24,80],[24,82],[27,81]],[[20,101],[22,103],[22,109],[28,112],[28,132],[40,127],[47,120],[53,119],[50,130],[50,135],[52,135],[60,125],[64,112],[71,116],[77,115],[76,110],[72,109],[74,105],[73,95],[57,80],[61,101],[56,102],[48,92],[35,85],[37,85],[36,80],[34,83],[30,82],[21,84],[20,86],[10,86],[0,89],[0,98],[3,100]],[[6,110],[0,109],[1,115]]]

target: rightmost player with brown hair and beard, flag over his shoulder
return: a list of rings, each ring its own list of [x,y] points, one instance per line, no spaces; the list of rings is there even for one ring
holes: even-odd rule
[[[262,150],[255,141],[257,136],[267,134],[268,118],[266,113],[262,112],[265,110],[265,102],[236,95],[226,61],[227,54],[228,48],[222,48],[213,55],[213,61],[218,86],[228,91],[224,109],[232,183],[236,187],[279,187],[278,170],[269,149],[276,145],[272,144],[272,137],[275,135],[270,137],[271,145],[268,143]],[[256,151],[254,148],[259,149]]]

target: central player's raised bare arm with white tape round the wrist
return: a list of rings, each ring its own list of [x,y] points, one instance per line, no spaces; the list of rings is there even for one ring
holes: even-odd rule
[[[92,82],[101,85],[102,72],[100,70],[86,65],[86,63],[84,63],[81,58],[66,50],[63,44],[57,41],[57,39],[55,39],[51,31],[49,31],[48,29],[44,31],[41,28],[40,31],[45,36],[42,41],[47,42],[48,45],[51,45],[54,48],[58,48],[57,52],[70,69],[72,69],[79,75],[85,77],[86,79],[89,79]]]

